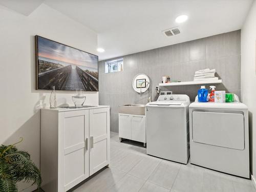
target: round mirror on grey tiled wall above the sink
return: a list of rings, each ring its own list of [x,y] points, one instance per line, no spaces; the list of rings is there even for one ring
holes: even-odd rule
[[[133,78],[133,89],[137,93],[144,93],[150,87],[150,78],[143,74],[137,74]]]

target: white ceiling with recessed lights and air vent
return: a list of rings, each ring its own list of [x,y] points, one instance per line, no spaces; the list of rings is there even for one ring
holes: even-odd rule
[[[0,0],[0,4],[18,1],[20,2]],[[35,0],[24,0],[23,3],[31,1]],[[104,53],[98,54],[100,60],[241,29],[252,2],[253,0],[44,1],[48,6],[98,33],[98,47],[105,49]],[[188,20],[183,24],[176,24],[175,18],[180,14],[187,14]],[[177,36],[166,37],[161,32],[177,26],[181,30],[181,34]]]

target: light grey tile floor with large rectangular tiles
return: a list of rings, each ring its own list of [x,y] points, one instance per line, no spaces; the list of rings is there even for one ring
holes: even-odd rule
[[[146,155],[142,143],[111,133],[111,164],[74,192],[256,192],[251,180]]]

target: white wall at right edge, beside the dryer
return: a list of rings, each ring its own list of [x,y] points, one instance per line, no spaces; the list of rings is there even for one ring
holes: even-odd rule
[[[249,108],[251,172],[256,176],[256,1],[241,30],[241,100]]]

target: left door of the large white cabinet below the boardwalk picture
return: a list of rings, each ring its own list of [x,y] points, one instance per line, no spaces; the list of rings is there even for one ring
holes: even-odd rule
[[[88,145],[89,111],[61,112],[59,117],[58,191],[67,191],[89,177]]]

